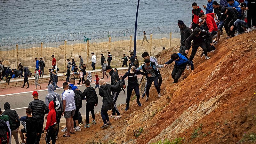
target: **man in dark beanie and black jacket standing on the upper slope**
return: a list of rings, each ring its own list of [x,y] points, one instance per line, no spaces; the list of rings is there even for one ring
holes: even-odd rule
[[[185,53],[185,41],[193,33],[193,31],[188,28],[182,20],[178,20],[178,26],[180,28],[180,53],[188,58],[187,54]]]

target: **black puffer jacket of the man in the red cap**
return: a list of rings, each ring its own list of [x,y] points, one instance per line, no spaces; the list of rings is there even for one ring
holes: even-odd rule
[[[43,119],[44,115],[48,113],[49,109],[43,100],[35,99],[28,104],[28,108],[32,109],[32,115],[37,118],[37,120]]]

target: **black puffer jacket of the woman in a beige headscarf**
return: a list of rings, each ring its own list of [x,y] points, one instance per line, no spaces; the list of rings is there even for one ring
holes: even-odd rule
[[[99,94],[102,99],[102,107],[103,110],[111,110],[114,108],[114,101],[112,97],[111,91],[115,91],[119,88],[120,82],[116,82],[114,85],[105,84],[101,85],[99,88]]]

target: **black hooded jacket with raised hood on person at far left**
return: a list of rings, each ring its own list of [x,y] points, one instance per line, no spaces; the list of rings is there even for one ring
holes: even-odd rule
[[[4,103],[4,115],[9,116],[12,124],[10,124],[11,131],[17,129],[20,126],[20,117],[15,110],[11,109],[9,102]]]

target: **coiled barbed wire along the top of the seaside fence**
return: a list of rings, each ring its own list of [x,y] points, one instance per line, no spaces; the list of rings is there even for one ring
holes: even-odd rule
[[[180,29],[176,26],[163,26],[163,27],[153,27],[153,28],[138,28],[137,36],[142,36],[143,31],[147,34],[168,34],[168,33],[179,33]],[[116,37],[126,37],[133,36],[134,28],[128,28],[124,30],[112,30],[112,31],[98,31],[98,32],[78,32],[70,34],[56,34],[56,35],[46,35],[46,36],[25,36],[25,37],[4,37],[0,39],[0,46],[14,46],[18,45],[29,45],[29,44],[40,44],[40,43],[55,43],[67,41],[80,41],[84,40],[84,36],[93,39],[103,39],[103,38],[116,38]]]

